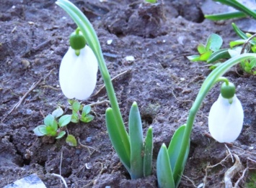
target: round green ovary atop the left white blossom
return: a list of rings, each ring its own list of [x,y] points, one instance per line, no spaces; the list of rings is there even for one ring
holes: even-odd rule
[[[83,34],[76,29],[69,37],[69,44],[74,50],[81,50],[87,44]]]

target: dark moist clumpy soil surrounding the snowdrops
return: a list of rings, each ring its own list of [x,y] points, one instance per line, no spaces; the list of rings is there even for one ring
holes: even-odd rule
[[[97,32],[110,75],[115,77],[112,83],[125,125],[136,101],[144,135],[149,126],[153,127],[152,174],[131,180],[112,148],[105,126],[105,110],[110,104],[105,101],[108,98],[100,72],[94,94],[81,101],[85,105],[98,103],[92,105],[94,121],[67,126],[80,141],[78,146],[69,146],[65,138],[35,136],[32,130],[58,106],[71,114],[59,87],[58,70],[76,25],[53,0],[1,0],[0,187],[33,173],[46,187],[63,187],[53,173],[61,173],[68,187],[157,187],[160,146],[168,145],[175,129],[186,122],[193,100],[211,72],[205,62],[190,62],[186,56],[197,54],[198,43],[204,44],[211,33],[221,35],[224,47],[228,47],[231,40],[238,39],[232,21],[203,19],[203,1],[72,2]],[[108,40],[112,43],[107,44]],[[128,56],[134,60],[127,60]],[[225,172],[235,161],[230,153],[237,154],[242,163],[231,182],[242,177],[239,187],[256,187],[256,77],[244,74],[239,66],[225,76],[237,85],[237,97],[244,108],[242,133],[237,141],[226,145],[209,136],[208,112],[219,96],[216,85],[195,118],[179,187],[203,183],[224,187]]]

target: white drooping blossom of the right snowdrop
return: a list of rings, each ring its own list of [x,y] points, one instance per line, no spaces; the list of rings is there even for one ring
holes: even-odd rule
[[[237,95],[234,95],[230,104],[220,94],[208,117],[211,136],[221,143],[235,141],[242,131],[243,121],[244,111]]]

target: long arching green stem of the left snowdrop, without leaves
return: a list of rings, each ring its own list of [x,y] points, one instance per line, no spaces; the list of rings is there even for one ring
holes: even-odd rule
[[[100,47],[100,42],[97,37],[97,34],[94,31],[92,24],[89,22],[87,17],[85,17],[84,14],[74,4],[72,4],[67,0],[58,0],[56,1],[56,4],[58,4],[58,6],[61,6],[61,8],[64,9],[69,14],[69,16],[74,20],[74,22],[76,22],[77,26],[79,27],[81,32],[84,34],[84,37],[87,40],[87,44],[89,45],[89,47],[91,47],[92,51],[97,57],[102,79],[104,80],[105,88],[107,90],[107,95],[108,95],[108,98],[110,99],[112,111],[115,116],[115,122],[119,125],[118,131],[120,134],[124,136],[123,143],[124,143],[125,151],[126,151],[126,154],[130,156],[130,141],[129,141],[128,133],[125,130],[123,118],[120,113],[120,108],[118,105],[118,100],[115,96],[115,90],[111,82],[110,73],[107,70],[107,66],[105,64],[105,60],[102,55],[102,50]]]

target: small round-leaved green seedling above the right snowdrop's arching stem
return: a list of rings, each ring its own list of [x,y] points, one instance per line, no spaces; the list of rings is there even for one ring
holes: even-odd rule
[[[198,44],[199,55],[191,55],[187,58],[192,62],[206,61],[211,57],[213,52],[221,48],[222,43],[223,40],[218,34],[211,34],[206,41],[206,45]]]

